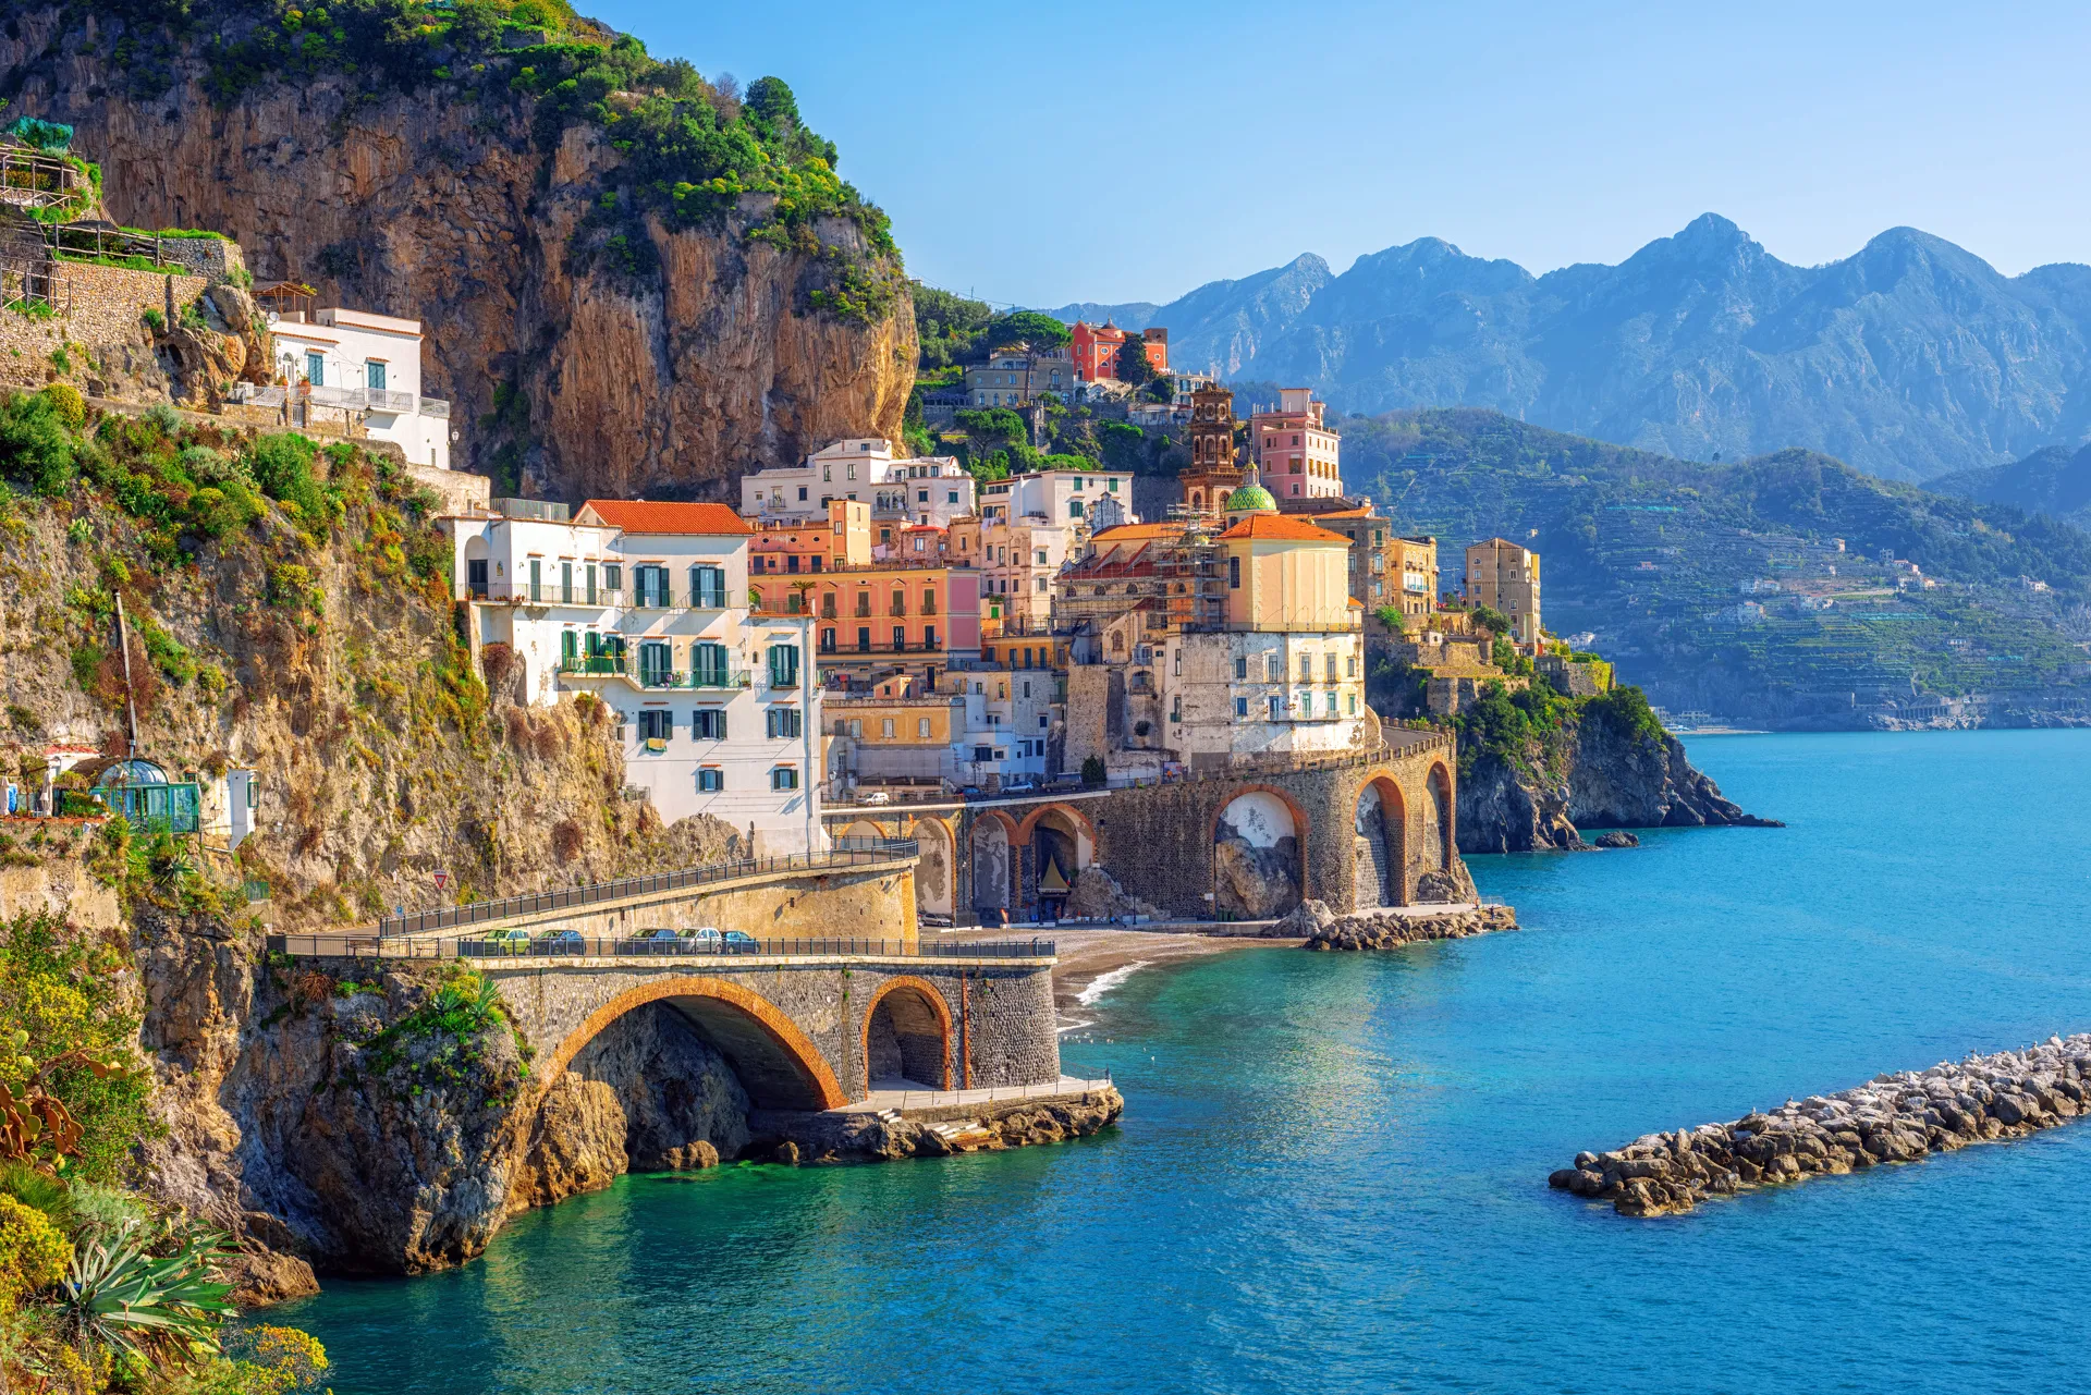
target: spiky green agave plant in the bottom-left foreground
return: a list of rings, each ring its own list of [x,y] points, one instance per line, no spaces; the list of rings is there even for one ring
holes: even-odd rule
[[[232,1284],[217,1280],[228,1257],[222,1244],[217,1232],[194,1232],[171,1255],[151,1255],[136,1226],[82,1244],[59,1284],[59,1311],[79,1353],[174,1366],[215,1353],[217,1328],[236,1311]]]

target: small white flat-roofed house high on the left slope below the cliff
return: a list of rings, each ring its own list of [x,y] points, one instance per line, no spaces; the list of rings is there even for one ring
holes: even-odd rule
[[[364,429],[395,441],[410,464],[450,468],[450,404],[420,395],[420,320],[366,310],[293,310],[270,316],[276,370],[314,406],[364,414]],[[257,397],[257,395],[253,395]]]

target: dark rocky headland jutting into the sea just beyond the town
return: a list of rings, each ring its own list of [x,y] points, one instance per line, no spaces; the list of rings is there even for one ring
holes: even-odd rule
[[[1725,799],[1671,734],[1654,742],[1616,722],[1572,715],[1552,755],[1531,761],[1533,770],[1472,757],[1460,776],[1462,853],[1581,849],[1581,828],[1777,826]]]

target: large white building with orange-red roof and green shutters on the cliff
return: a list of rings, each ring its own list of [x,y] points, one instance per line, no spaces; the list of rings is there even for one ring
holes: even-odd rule
[[[757,855],[824,845],[809,617],[749,615],[751,529],[732,508],[588,500],[573,519],[512,504],[443,523],[475,661],[508,644],[535,707],[602,699],[625,782],[663,820],[726,820]]]

